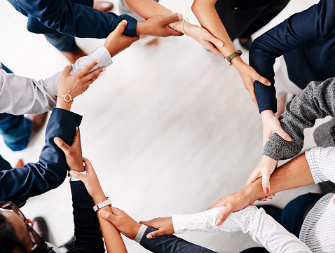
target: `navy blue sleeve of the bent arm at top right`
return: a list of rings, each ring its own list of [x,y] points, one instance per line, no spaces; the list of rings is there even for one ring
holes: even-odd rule
[[[333,10],[332,0],[321,0],[306,11],[292,15],[252,43],[249,64],[271,82],[271,86],[264,86],[259,81],[254,82],[259,112],[277,111],[273,70],[275,58],[327,36],[334,25]]]

